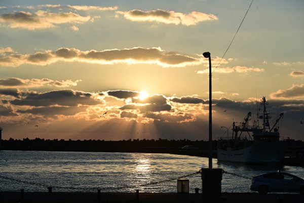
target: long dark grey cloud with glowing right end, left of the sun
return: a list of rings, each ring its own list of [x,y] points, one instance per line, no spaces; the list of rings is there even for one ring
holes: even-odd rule
[[[18,96],[20,97],[20,96]],[[93,93],[73,90],[58,90],[45,93],[30,93],[21,99],[9,100],[9,103],[17,106],[79,106],[100,105],[101,100],[95,100]],[[2,100],[6,101],[6,100]]]

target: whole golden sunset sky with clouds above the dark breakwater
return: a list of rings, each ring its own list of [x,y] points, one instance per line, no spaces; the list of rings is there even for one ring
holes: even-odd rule
[[[304,140],[304,2],[2,1],[2,139],[208,140],[283,112]],[[223,57],[224,55],[224,57]],[[261,123],[261,122],[260,122]]]

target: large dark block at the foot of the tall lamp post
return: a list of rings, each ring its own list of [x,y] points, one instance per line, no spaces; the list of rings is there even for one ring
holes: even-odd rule
[[[202,168],[202,196],[204,199],[221,198],[221,168]]]

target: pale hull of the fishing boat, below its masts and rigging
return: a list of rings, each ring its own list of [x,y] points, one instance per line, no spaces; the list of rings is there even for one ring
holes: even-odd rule
[[[280,141],[258,142],[239,150],[234,150],[233,148],[227,148],[227,150],[217,149],[217,160],[219,161],[245,163],[282,162],[283,158],[284,144]]]

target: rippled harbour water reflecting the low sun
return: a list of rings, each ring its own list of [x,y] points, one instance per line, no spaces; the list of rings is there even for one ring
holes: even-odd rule
[[[177,179],[208,167],[208,158],[147,153],[0,151],[0,191],[176,192]],[[280,169],[304,178],[301,166],[218,162],[222,192],[252,192],[251,176]],[[5,178],[4,178],[5,177]],[[201,175],[189,180],[189,192],[202,188]]]

